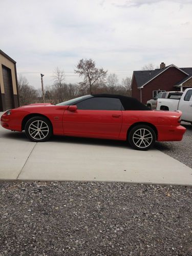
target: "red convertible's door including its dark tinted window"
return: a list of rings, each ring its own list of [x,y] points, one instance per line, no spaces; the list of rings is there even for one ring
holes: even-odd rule
[[[64,135],[92,138],[119,137],[122,104],[118,98],[92,97],[78,102],[76,111],[63,115]]]

